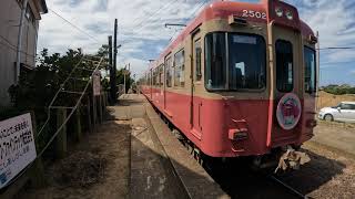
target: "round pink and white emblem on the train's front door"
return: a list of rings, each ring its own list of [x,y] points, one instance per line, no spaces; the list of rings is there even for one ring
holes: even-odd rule
[[[288,93],[280,100],[276,117],[283,129],[293,129],[300,122],[301,113],[302,106],[297,95]]]

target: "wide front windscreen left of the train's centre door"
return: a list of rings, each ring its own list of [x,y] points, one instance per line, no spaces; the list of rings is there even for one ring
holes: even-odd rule
[[[261,35],[229,34],[229,90],[265,87],[266,44]]]

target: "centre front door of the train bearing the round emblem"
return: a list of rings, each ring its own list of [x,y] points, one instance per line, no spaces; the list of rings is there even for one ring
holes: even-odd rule
[[[276,119],[273,126],[272,145],[284,145],[295,140],[301,134],[301,115],[303,100],[303,63],[301,33],[280,27],[273,28],[274,45],[274,111],[271,117]],[[273,113],[275,115],[273,115]]]

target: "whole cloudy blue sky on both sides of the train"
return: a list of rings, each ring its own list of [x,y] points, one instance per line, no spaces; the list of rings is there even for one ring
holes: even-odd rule
[[[258,0],[242,0],[257,2]],[[131,63],[140,75],[148,60],[155,59],[180,30],[164,23],[185,23],[202,8],[204,0],[48,0],[48,7],[85,30],[91,39],[51,13],[40,23],[40,51],[64,52],[82,48],[95,52],[113,32],[119,19],[119,66]],[[210,1],[211,2],[211,1]],[[298,8],[301,18],[314,31],[320,31],[321,48],[355,48],[355,1],[353,0],[286,0]],[[355,85],[355,50],[321,52],[321,84]]]

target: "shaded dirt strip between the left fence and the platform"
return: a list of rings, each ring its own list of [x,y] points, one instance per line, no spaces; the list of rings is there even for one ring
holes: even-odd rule
[[[45,188],[27,188],[16,198],[128,198],[130,134],[130,121],[102,124],[67,158],[45,168]]]

